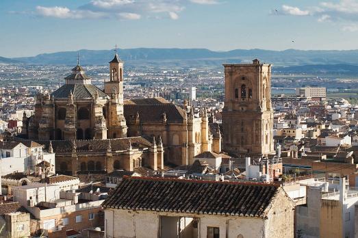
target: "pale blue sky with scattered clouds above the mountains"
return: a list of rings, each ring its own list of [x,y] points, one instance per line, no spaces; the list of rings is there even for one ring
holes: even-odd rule
[[[1,0],[0,56],[79,49],[358,49],[358,0]]]

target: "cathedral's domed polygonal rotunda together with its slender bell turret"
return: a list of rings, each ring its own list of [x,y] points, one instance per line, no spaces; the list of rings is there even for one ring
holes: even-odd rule
[[[110,62],[105,92],[91,84],[77,65],[66,83],[51,94],[36,97],[35,114],[23,117],[23,133],[31,140],[92,140],[127,136],[123,116],[123,62]]]

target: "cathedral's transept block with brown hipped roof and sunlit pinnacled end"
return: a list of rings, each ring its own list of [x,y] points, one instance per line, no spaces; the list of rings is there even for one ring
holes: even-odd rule
[[[178,107],[164,98],[125,101],[129,136],[161,137],[164,158],[176,165],[192,164],[195,155],[212,151],[207,111],[194,113],[189,103]]]

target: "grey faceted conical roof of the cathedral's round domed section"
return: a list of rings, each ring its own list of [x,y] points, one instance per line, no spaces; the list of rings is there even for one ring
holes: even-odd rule
[[[51,96],[54,98],[68,98],[71,92],[75,99],[91,99],[95,97],[96,92],[98,92],[100,98],[109,98],[107,94],[92,84],[65,84],[55,90]]]

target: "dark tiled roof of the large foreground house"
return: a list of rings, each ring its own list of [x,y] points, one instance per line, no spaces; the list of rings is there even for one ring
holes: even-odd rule
[[[279,185],[125,177],[103,202],[105,209],[127,209],[266,217]]]

